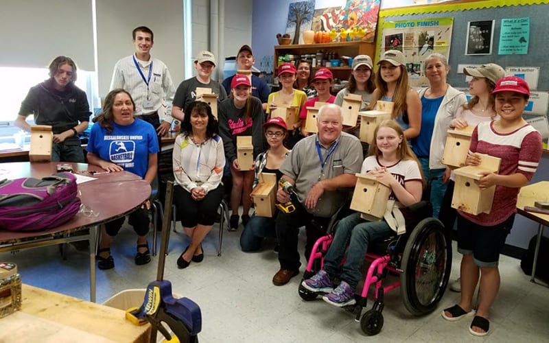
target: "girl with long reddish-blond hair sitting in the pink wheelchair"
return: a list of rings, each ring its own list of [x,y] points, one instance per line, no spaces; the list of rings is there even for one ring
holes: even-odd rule
[[[423,189],[421,167],[399,124],[394,120],[382,121],[375,129],[374,137],[361,173],[388,183],[391,188],[389,200],[397,200],[403,206],[419,202]],[[336,226],[323,269],[303,281],[303,287],[311,292],[326,293],[323,299],[331,305],[354,305],[355,288],[362,276],[361,268],[369,244],[391,233],[393,229],[384,220],[368,222],[360,213],[344,217]],[[341,265],[347,246],[347,259]],[[334,289],[334,278],[340,273],[341,283]]]

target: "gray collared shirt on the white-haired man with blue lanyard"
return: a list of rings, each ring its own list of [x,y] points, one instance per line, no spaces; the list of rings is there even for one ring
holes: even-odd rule
[[[362,145],[353,135],[341,132],[340,137],[327,147],[318,143],[320,155],[323,161],[326,160],[324,168],[318,156],[317,142],[317,135],[301,139],[280,167],[282,174],[295,180],[297,197],[302,203],[314,183],[342,174],[360,173],[362,166]],[[336,147],[334,147],[335,144],[337,144]],[[333,151],[329,154],[333,147]],[[307,211],[317,217],[331,217],[347,196],[349,194],[345,191],[324,191],[316,207]]]

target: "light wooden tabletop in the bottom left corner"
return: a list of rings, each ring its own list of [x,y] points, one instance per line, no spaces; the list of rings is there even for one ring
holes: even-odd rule
[[[0,342],[150,342],[125,311],[23,284],[21,309],[0,320]]]

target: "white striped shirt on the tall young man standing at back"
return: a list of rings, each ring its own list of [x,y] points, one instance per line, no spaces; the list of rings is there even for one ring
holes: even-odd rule
[[[156,58],[150,58],[148,61],[138,60],[137,58],[135,60],[137,60],[145,80],[148,79],[152,62],[149,86],[137,71],[133,55],[131,55],[116,62],[110,89],[124,88],[132,95],[135,102],[135,115],[150,115],[158,111],[161,121],[171,123],[172,101],[174,100],[176,88],[172,82],[170,71],[161,60]]]

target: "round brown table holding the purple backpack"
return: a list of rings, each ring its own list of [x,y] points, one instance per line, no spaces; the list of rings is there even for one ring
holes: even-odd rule
[[[56,172],[56,162],[0,163],[0,179],[41,178]],[[103,171],[95,165],[71,163],[75,174],[85,171]],[[86,175],[90,176],[90,175]],[[90,300],[95,302],[95,248],[99,226],[124,216],[147,200],[150,185],[128,171],[91,176],[93,180],[78,184],[78,197],[84,205],[71,220],[49,230],[8,231],[0,230],[0,252],[49,246],[70,241],[89,241],[90,255]],[[78,181],[77,181],[78,182]]]

